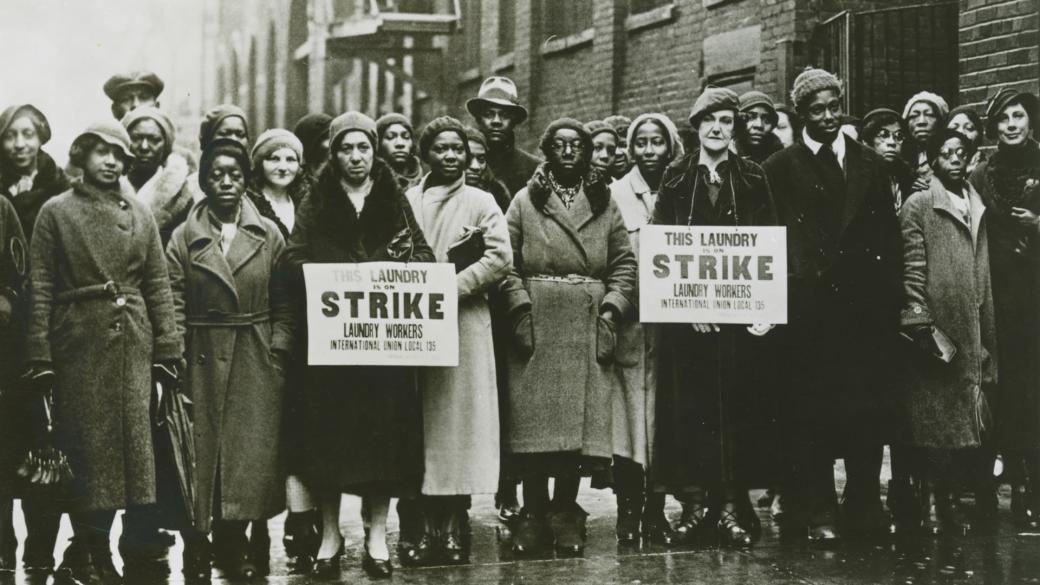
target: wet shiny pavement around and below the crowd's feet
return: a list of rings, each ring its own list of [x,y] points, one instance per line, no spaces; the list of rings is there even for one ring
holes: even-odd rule
[[[840,468],[839,468],[840,470]],[[754,495],[757,495],[755,492]],[[1040,583],[1040,535],[1016,534],[1010,525],[1008,499],[1002,495],[1000,527],[989,536],[921,537],[896,545],[894,542],[844,543],[822,550],[804,542],[781,542],[777,527],[765,510],[762,536],[749,551],[680,548],[666,550],[619,549],[614,537],[615,503],[606,490],[583,487],[579,503],[590,512],[589,543],[581,558],[514,558],[509,531],[498,523],[492,499],[475,498],[471,563],[461,567],[406,569],[396,566],[391,583],[407,584],[1024,584]],[[362,528],[360,502],[344,498],[341,528],[346,536],[346,555],[338,580],[317,580],[287,574],[281,545],[283,517],[270,522],[271,569],[266,580],[252,583],[309,585],[316,583],[369,583],[361,570]],[[669,503],[676,515],[678,506]],[[396,516],[391,512],[391,548],[396,540]],[[24,535],[24,527],[18,526]],[[113,530],[118,534],[119,526]],[[68,535],[64,526],[63,535]],[[64,538],[62,538],[62,542]],[[113,550],[115,540],[112,541]],[[161,580],[134,580],[132,585],[183,583],[180,576],[180,542],[171,551],[172,575]],[[119,559],[116,558],[116,564]],[[18,574],[0,576],[0,585],[48,585],[52,581]],[[213,583],[229,583],[213,573]]]

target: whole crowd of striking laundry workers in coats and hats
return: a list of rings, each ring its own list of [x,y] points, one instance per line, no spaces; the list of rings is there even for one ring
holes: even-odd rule
[[[814,543],[988,530],[999,482],[1040,530],[1036,96],[922,92],[855,119],[808,68],[789,105],[708,86],[680,125],[562,118],[531,154],[491,77],[472,126],[421,132],[348,111],[257,134],[218,105],[197,156],[162,90],[112,77],[114,119],[64,170],[44,112],[0,113],[0,570],[15,499],[25,571],[80,581],[120,578],[119,510],[127,574],[179,531],[188,581],[266,575],[287,509],[290,568],[334,577],[342,493],[372,578],[393,571],[392,499],[407,566],[468,562],[489,493],[517,554],[579,555],[582,478],[616,492],[622,544],[749,546],[756,505]],[[651,224],[785,227],[787,324],[641,324]],[[457,367],[307,363],[303,268],[369,261],[454,261]],[[155,457],[157,387],[193,403],[190,509]],[[19,469],[43,441],[71,473],[41,488]]]

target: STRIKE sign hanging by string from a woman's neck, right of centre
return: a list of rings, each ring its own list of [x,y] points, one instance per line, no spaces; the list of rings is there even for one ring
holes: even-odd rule
[[[787,323],[783,227],[644,226],[643,323]]]

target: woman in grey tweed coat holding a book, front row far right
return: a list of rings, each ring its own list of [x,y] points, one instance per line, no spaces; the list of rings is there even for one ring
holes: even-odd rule
[[[929,152],[932,186],[911,196],[900,211],[901,321],[907,335],[926,350],[908,352],[910,444],[920,455],[917,470],[925,472],[915,475],[931,480],[936,515],[945,531],[963,529],[954,504],[961,492],[958,477],[968,480],[964,487],[980,500],[993,490],[992,457],[982,459],[980,447],[991,424],[986,395],[997,381],[996,328],[986,206],[965,179],[973,151],[960,132],[939,130]],[[929,355],[935,350],[933,329],[957,347],[950,363]]]

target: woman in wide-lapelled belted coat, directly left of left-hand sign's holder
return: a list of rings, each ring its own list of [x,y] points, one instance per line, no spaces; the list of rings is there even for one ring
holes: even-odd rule
[[[199,176],[206,199],[166,250],[196,405],[194,526],[205,534],[212,523],[217,562],[250,578],[268,570],[266,522],[285,501],[280,429],[292,340],[280,269],[285,240],[245,199],[250,157],[239,142],[208,144]],[[204,549],[202,538],[185,538],[189,578],[209,576]]]

